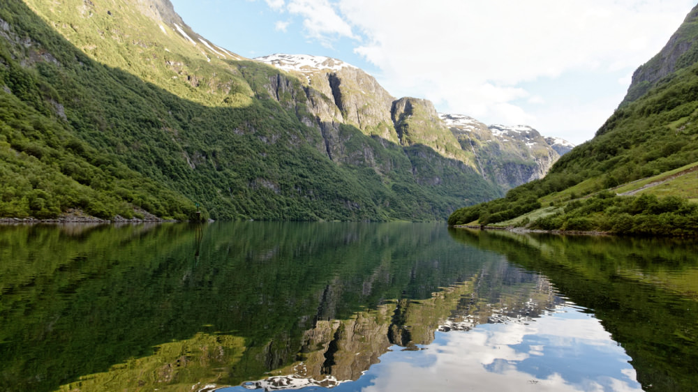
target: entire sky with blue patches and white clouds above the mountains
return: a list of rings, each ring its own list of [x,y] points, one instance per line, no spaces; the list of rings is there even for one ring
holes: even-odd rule
[[[579,144],[696,0],[171,0],[242,56],[329,56],[396,98]]]

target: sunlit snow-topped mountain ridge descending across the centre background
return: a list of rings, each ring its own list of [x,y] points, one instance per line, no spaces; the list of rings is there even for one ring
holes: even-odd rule
[[[560,152],[566,153],[572,146],[569,142],[559,138],[551,138],[552,142],[548,144],[540,139],[540,134],[536,130],[529,127],[540,139],[537,140],[533,149],[530,144],[527,145],[525,142],[515,143],[506,148],[498,147],[496,151],[474,149],[465,140],[459,140],[459,137],[461,139],[466,137],[468,130],[454,122],[453,119],[454,116],[463,116],[439,114],[429,100],[412,97],[396,99],[385,91],[374,77],[339,59],[307,54],[272,54],[253,60],[262,61],[292,75],[298,75],[302,82],[307,82],[308,86],[313,86],[325,93],[326,96],[334,97],[336,107],[343,113],[342,118],[364,130],[367,135],[379,135],[403,146],[414,144],[429,146],[447,158],[459,160],[463,164],[473,167],[484,179],[496,183],[504,190],[533,179],[542,178],[550,165],[562,155]],[[350,72],[346,72],[347,69]],[[366,90],[369,93],[366,93]],[[378,96],[380,100],[372,101],[369,98],[369,100],[362,101],[365,97],[371,96]],[[344,101],[347,100],[352,102],[352,105],[346,105]],[[391,100],[392,103],[389,103]],[[390,109],[387,112],[386,109],[389,105]],[[371,116],[376,120],[373,123],[362,122],[360,111],[346,110],[346,107],[355,108],[358,106],[371,108]],[[446,116],[450,116],[449,119]],[[323,117],[322,113],[318,117]],[[333,121],[341,121],[338,116],[331,117]],[[369,130],[371,126],[376,126],[376,123],[385,126],[383,132]],[[457,130],[456,128],[459,127],[461,129]],[[515,132],[516,128],[515,126],[499,127],[511,129],[512,132]],[[501,140],[501,135],[496,137]],[[554,140],[560,140],[560,144],[553,146]],[[484,154],[484,158],[480,159],[477,157],[478,154]],[[483,166],[476,162],[478,160],[487,160],[489,166],[496,166],[498,174],[485,171]]]

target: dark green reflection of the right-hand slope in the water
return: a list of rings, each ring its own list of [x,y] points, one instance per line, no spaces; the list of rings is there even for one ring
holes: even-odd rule
[[[629,356],[644,389],[698,383],[698,247],[681,239],[450,230],[469,247],[539,271],[589,308]]]

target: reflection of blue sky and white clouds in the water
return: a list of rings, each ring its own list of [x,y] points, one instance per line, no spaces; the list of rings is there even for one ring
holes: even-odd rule
[[[525,322],[437,332],[423,348],[393,347],[366,372],[371,382],[361,390],[641,391],[623,348],[571,305]]]

